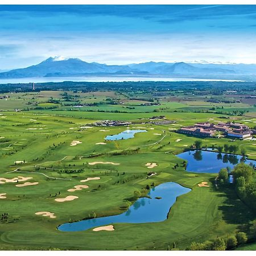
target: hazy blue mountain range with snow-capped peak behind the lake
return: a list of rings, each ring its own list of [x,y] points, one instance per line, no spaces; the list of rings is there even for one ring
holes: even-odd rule
[[[49,57],[37,65],[1,72],[0,79],[102,75],[168,76],[256,81],[256,64],[166,63],[150,61],[139,64],[106,65],[96,62],[88,63],[80,59]]]

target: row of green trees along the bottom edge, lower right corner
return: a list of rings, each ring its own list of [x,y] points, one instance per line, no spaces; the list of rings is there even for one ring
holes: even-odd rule
[[[224,251],[232,250],[243,243],[246,243],[247,236],[244,232],[236,233],[236,236],[230,236],[226,240],[221,237],[217,237],[213,241],[205,241],[203,243],[192,242],[191,246],[188,248],[192,251],[202,251],[202,250],[214,250],[214,251]]]

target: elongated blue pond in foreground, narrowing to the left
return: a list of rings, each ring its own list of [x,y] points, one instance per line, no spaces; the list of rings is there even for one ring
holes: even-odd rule
[[[180,195],[191,191],[174,182],[167,182],[150,189],[147,194],[151,198],[141,197],[126,212],[107,217],[92,218],[73,223],[65,223],[58,227],[61,231],[82,231],[114,223],[146,223],[160,222],[168,217],[170,208]],[[156,199],[157,197],[158,199]]]

